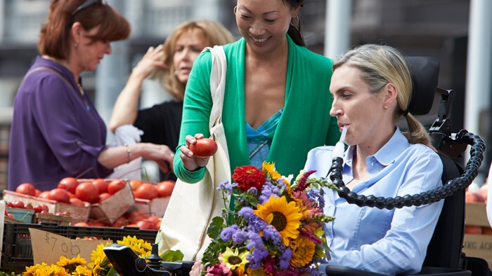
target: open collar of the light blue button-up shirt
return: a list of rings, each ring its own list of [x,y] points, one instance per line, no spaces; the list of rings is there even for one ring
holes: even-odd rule
[[[400,128],[396,127],[391,139],[375,153],[374,158],[376,158],[377,162],[381,165],[387,166],[393,163],[394,160],[408,148],[408,146],[410,146],[408,139],[401,133]],[[354,160],[355,149],[355,146],[349,146],[349,149],[344,153],[344,160],[346,160],[345,164],[350,167],[352,167],[352,160]]]

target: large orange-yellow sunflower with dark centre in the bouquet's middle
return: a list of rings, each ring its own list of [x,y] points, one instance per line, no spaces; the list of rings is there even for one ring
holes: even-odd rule
[[[287,204],[284,196],[277,198],[271,195],[264,205],[257,205],[254,214],[276,228],[285,246],[289,245],[289,237],[295,239],[299,235],[302,212],[296,202],[291,201]]]

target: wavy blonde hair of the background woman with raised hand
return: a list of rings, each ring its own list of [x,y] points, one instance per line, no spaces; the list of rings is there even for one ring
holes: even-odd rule
[[[153,78],[157,78],[161,85],[169,91],[174,99],[183,101],[186,83],[181,83],[174,76],[173,56],[176,53],[176,41],[183,34],[189,32],[200,32],[207,41],[208,46],[224,45],[233,42],[233,36],[224,26],[217,22],[209,20],[190,20],[183,22],[176,27],[174,31],[167,37],[164,42],[162,51],[164,52],[164,64],[166,69],[158,69],[153,74]]]

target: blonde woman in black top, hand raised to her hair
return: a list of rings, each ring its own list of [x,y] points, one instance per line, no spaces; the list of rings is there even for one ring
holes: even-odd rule
[[[183,97],[193,61],[203,48],[224,45],[233,36],[217,22],[187,21],[176,27],[163,45],[148,48],[147,53],[131,71],[127,85],[116,100],[109,127],[115,132],[122,125],[143,130],[141,142],[169,146],[178,145],[183,113]],[[143,81],[148,77],[159,81],[172,100],[138,110]],[[161,174],[161,180],[164,180]],[[168,179],[176,179],[174,174]]]

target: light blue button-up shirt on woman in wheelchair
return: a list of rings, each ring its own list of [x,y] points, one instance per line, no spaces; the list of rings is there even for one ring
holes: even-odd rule
[[[304,170],[317,170],[313,177],[326,177],[332,165],[332,149],[321,146],[309,151]],[[354,178],[354,150],[354,146],[349,146],[344,153],[346,184]],[[442,185],[443,165],[437,153],[422,144],[408,143],[398,128],[389,142],[365,162],[369,177],[352,189],[358,194],[394,198]],[[330,189],[325,190],[325,202],[325,214],[335,216],[335,221],[325,225],[332,249],[329,264],[393,275],[420,271],[444,204],[441,200],[392,210],[361,208]]]

